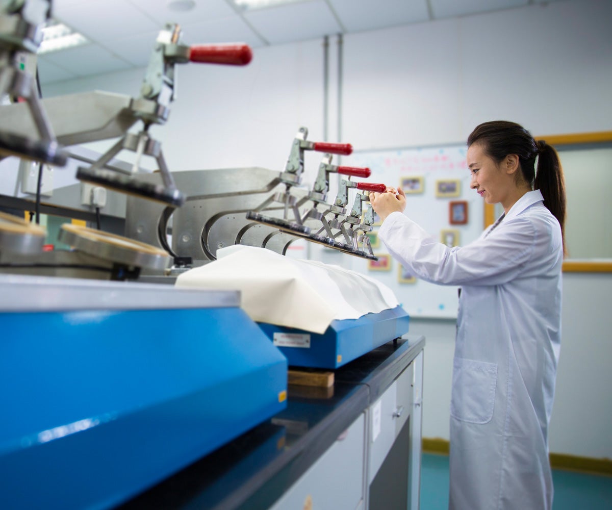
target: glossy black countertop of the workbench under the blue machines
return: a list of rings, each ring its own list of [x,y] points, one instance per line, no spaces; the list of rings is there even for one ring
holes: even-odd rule
[[[307,471],[312,471],[313,465],[337,440],[341,440],[341,435],[351,424],[358,421],[362,414],[367,415],[377,400],[383,400],[381,396],[422,353],[424,345],[424,337],[406,336],[388,342],[335,370],[332,388],[289,385],[286,410],[120,508],[257,510],[273,505],[274,508],[285,508],[282,502],[278,503],[279,498],[290,492]],[[419,360],[422,362],[422,356]],[[418,401],[414,400],[414,405],[420,406],[420,397]],[[412,411],[408,412],[412,414]],[[420,444],[420,408],[417,418],[411,421],[417,422],[412,426],[416,427],[414,433],[418,434]],[[368,424],[371,420],[362,419],[362,422]],[[364,432],[360,432],[366,440],[362,440],[362,443],[368,443],[370,428],[366,425]],[[408,423],[402,428],[408,429]],[[412,429],[408,432],[412,436]],[[420,470],[420,446],[416,453],[411,451],[411,456],[413,454],[417,458],[412,465],[419,466]],[[402,459],[408,463],[408,459]],[[363,479],[367,487],[370,480],[367,460],[365,462]],[[329,486],[333,483],[329,481]],[[393,483],[397,484],[397,480]],[[367,492],[366,488],[358,508],[383,508],[379,504],[368,505]],[[418,502],[418,493],[416,499],[413,496],[411,500]]]

